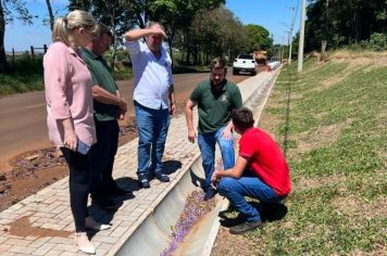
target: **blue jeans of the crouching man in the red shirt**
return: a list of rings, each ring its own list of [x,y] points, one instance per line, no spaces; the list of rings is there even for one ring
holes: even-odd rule
[[[245,170],[245,172],[239,179],[222,178],[217,184],[217,191],[230,202],[236,210],[247,218],[247,221],[260,221],[259,212],[244,196],[250,196],[265,203],[278,203],[284,200],[284,196],[277,196],[272,188],[262,182],[251,171]]]

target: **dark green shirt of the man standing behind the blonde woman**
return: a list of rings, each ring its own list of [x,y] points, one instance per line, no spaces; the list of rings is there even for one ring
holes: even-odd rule
[[[98,56],[90,52],[86,48],[82,48],[82,55],[87,64],[87,67],[91,74],[91,80],[93,86],[100,86],[110,93],[116,95],[117,87],[114,82],[113,76],[110,73],[110,67],[107,61],[102,56]],[[118,106],[104,104],[98,101],[93,101],[95,117],[97,120],[114,120],[118,116]]]

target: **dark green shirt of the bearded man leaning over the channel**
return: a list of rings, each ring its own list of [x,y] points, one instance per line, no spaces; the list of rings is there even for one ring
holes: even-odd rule
[[[199,133],[210,133],[228,124],[233,110],[242,106],[239,88],[227,80],[222,90],[211,88],[211,81],[200,82],[190,100],[198,103]]]

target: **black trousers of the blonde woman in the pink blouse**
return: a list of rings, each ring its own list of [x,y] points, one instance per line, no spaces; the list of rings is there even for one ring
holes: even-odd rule
[[[85,232],[87,199],[89,195],[90,157],[78,152],[61,148],[70,169],[70,206],[73,213],[76,232]]]

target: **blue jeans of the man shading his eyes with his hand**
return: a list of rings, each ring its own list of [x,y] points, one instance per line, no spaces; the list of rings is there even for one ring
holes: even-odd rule
[[[170,126],[168,110],[152,110],[135,102],[138,129],[138,169],[140,178],[161,171],[166,133]]]

